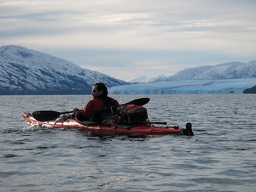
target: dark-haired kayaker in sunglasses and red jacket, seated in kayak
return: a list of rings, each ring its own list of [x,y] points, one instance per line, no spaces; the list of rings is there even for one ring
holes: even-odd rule
[[[78,108],[73,109],[75,117],[80,121],[101,122],[107,117],[107,110],[103,111],[103,109],[109,106],[120,107],[117,100],[107,95],[108,91],[106,85],[102,82],[97,82],[92,87],[93,99],[85,105],[83,110],[78,110]]]

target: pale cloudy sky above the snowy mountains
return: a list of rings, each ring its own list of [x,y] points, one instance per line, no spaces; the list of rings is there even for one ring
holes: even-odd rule
[[[120,80],[256,60],[255,0],[0,0],[0,46]]]

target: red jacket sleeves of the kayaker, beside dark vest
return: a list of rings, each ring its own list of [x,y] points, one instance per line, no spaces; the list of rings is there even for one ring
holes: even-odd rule
[[[117,100],[115,100],[117,107],[120,107],[121,105],[119,105],[119,103],[117,102]],[[83,110],[80,110],[78,112],[75,112],[76,114],[82,112],[82,115],[86,118],[86,119],[90,119],[92,118],[96,112],[101,112],[104,108],[104,103],[102,100],[100,99],[93,99],[90,100],[90,102],[87,103],[87,105],[85,105]]]

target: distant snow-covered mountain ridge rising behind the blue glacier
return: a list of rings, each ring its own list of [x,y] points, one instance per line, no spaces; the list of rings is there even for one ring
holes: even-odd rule
[[[196,68],[188,68],[179,71],[169,77],[159,76],[156,78],[138,78],[130,82],[148,83],[176,80],[228,80],[256,78],[256,60],[249,63],[231,62],[219,65],[204,65]]]

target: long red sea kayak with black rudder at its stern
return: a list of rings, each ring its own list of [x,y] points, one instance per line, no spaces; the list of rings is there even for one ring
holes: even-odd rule
[[[99,134],[129,134],[129,135],[188,135],[193,136],[191,123],[186,124],[186,129],[179,127],[161,127],[154,124],[166,124],[166,122],[136,122],[129,125],[112,124],[104,125],[98,122],[80,122],[75,117],[60,116],[49,121],[39,121],[32,114],[22,112],[29,127],[48,127],[56,129],[82,129],[87,132],[97,132]]]

